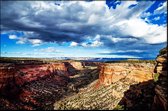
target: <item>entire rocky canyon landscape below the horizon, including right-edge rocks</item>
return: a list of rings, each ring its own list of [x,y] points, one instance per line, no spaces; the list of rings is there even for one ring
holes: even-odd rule
[[[2,60],[0,109],[167,110],[166,57],[167,48],[155,63]]]

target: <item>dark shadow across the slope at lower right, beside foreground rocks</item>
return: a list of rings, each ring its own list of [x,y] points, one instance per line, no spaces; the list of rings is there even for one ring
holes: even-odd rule
[[[153,110],[152,104],[155,95],[155,84],[156,82],[154,80],[149,80],[130,85],[130,88],[124,92],[124,97],[115,109]]]

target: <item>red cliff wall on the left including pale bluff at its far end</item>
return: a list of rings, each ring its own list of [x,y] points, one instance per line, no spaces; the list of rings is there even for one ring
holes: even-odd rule
[[[0,90],[6,84],[21,86],[39,78],[56,74],[58,76],[75,75],[78,70],[82,70],[84,65],[81,62],[55,62],[42,63],[38,61],[16,61],[15,63],[0,64]]]

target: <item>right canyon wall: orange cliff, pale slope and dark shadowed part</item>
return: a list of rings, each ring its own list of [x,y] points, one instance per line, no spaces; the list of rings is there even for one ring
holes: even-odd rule
[[[85,90],[55,102],[54,109],[113,110],[120,102],[130,109],[150,109],[154,64],[102,63],[98,70],[98,79]]]

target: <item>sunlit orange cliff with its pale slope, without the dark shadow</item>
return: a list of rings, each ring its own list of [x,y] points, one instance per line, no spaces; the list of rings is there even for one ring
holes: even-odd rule
[[[140,84],[153,79],[153,64],[131,64],[131,63],[111,63],[101,64],[99,66],[99,79],[92,82],[85,90],[81,90],[78,94],[62,99],[54,104],[56,110],[95,110],[106,109],[112,110],[123,99],[131,85]],[[138,85],[139,90],[143,91],[144,85]],[[142,87],[142,88],[141,88]],[[152,91],[149,85],[147,89]],[[146,93],[145,93],[146,94]],[[129,94],[130,95],[130,94]],[[142,94],[141,94],[142,95]],[[139,101],[142,98],[139,97]],[[143,99],[148,101],[146,99]],[[127,99],[126,105],[129,106]]]

